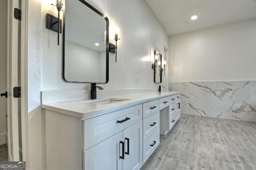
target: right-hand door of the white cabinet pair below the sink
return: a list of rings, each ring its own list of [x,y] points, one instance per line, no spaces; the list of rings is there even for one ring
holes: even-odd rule
[[[123,131],[123,141],[125,141],[124,170],[139,170],[142,167],[142,127],[142,121],[140,121]]]

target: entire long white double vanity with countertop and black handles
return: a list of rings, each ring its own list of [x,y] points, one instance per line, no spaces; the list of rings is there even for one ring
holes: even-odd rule
[[[180,92],[42,104],[47,169],[140,169],[180,117]]]

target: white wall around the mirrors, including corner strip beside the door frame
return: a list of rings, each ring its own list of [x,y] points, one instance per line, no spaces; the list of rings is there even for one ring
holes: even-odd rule
[[[40,107],[40,91],[84,90],[90,84],[67,83],[62,80],[62,46],[57,33],[45,28],[46,13],[57,16],[50,0],[29,0],[28,6],[28,114],[30,169],[45,166],[44,113]],[[158,88],[150,57],[154,50],[163,53],[163,42],[169,37],[144,0],[88,0],[108,16],[112,25],[120,25],[118,63],[110,54],[110,80],[104,89]],[[61,14],[62,17],[62,14]],[[62,42],[62,34],[60,35]],[[112,42],[114,43],[114,42]],[[135,76],[139,77],[135,84]]]

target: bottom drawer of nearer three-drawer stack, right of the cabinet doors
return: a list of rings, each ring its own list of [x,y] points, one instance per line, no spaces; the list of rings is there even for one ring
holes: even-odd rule
[[[143,142],[143,164],[159,145],[159,128]]]

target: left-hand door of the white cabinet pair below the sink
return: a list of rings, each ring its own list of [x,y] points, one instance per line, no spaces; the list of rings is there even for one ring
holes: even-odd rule
[[[98,145],[83,151],[84,170],[122,170],[123,132],[120,132]]]

